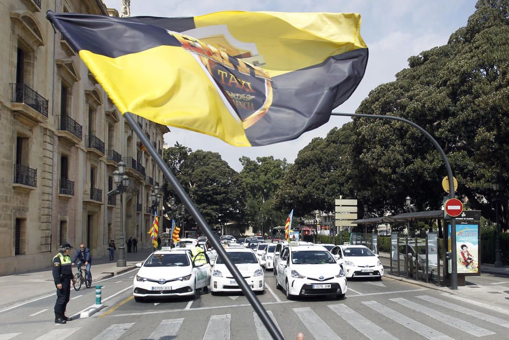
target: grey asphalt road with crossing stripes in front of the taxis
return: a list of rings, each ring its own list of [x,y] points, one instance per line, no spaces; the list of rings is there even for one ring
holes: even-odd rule
[[[247,299],[239,294],[196,300],[132,298],[137,270],[98,282],[103,285],[105,308],[91,318],[66,325],[52,320],[55,296],[31,301],[0,313],[0,339],[266,339],[270,338]],[[509,279],[471,277],[476,289],[508,296]],[[274,276],[265,272],[266,290],[260,301],[285,338],[298,332],[305,339],[420,339],[508,338],[507,308],[489,307],[465,296],[455,296],[390,278],[351,280],[344,299],[302,298],[288,301],[275,289]],[[475,289],[473,289],[475,290]],[[500,295],[504,294],[504,295]],[[495,296],[495,294],[494,294]],[[94,304],[95,289],[71,292],[68,315]]]

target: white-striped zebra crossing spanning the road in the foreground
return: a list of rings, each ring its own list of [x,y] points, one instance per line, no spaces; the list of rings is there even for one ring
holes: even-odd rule
[[[450,301],[447,301],[448,298],[450,298]],[[284,329],[287,333],[289,329],[293,330],[294,333],[284,334],[285,337],[292,338],[297,333],[297,330],[307,330],[307,333],[312,337],[306,335],[306,340],[309,338],[341,340],[341,336],[344,338],[357,338],[360,335],[373,340],[415,337],[452,339],[460,336],[472,338],[489,337],[490,335],[493,335],[493,337],[489,338],[505,338],[506,335],[504,334],[507,334],[506,328],[509,328],[508,310],[500,307],[491,308],[493,306],[489,305],[477,308],[477,310],[470,309],[469,307],[471,306],[459,305],[457,303],[457,296],[448,295],[447,297],[436,298],[429,295],[420,295],[407,298],[386,298],[381,301],[359,301],[355,305],[350,303],[347,305],[347,302],[349,301],[344,303],[326,302],[314,305],[314,307],[292,308],[289,306],[284,312],[278,311],[278,314],[276,314],[277,318],[275,317],[274,310],[269,310],[268,314],[279,329],[281,329],[280,325],[283,325],[286,327]],[[478,311],[478,309],[482,308],[487,310]],[[370,315],[369,317],[367,317],[368,314]],[[137,322],[112,324],[106,329],[98,329],[98,334],[93,334],[89,338],[93,340],[129,339],[132,338],[133,332],[137,329],[136,327],[143,324],[142,326],[144,327],[139,329],[148,329],[151,332],[148,337],[144,335],[143,338],[154,340],[166,338],[185,339],[189,338],[190,334],[184,334],[181,331],[181,326],[193,325],[196,321],[192,314],[178,314],[179,317],[183,315],[185,316],[184,318],[166,318],[162,321],[139,320]],[[467,316],[468,318],[466,318]],[[204,333],[199,336],[193,335],[193,338],[201,338],[202,336],[204,340],[235,338],[232,335],[232,329],[238,329],[239,325],[241,328],[249,329],[252,327],[256,329],[256,335],[253,332],[252,338],[258,337],[262,340],[271,338],[256,312],[252,312],[252,318],[247,317],[247,319],[251,320],[246,320],[245,313],[240,316],[240,314],[231,309],[228,309],[228,313],[217,313],[210,317],[207,316],[207,318],[209,320]],[[115,319],[112,318],[110,320]],[[147,323],[150,324],[150,327],[146,327]],[[79,324],[76,323],[72,326],[75,325]],[[338,325],[341,327],[338,327]],[[0,340],[74,338],[77,334],[80,334],[80,329],[81,327],[66,328],[65,326],[59,326],[40,335],[34,332],[10,332],[2,334],[0,331]],[[149,331],[147,331],[148,333]],[[405,336],[401,334],[405,334]],[[136,333],[136,335],[138,336],[139,333]]]

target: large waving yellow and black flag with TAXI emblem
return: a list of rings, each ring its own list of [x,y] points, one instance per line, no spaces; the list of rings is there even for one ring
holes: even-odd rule
[[[292,140],[326,123],[368,56],[355,13],[47,17],[122,113],[236,146]]]

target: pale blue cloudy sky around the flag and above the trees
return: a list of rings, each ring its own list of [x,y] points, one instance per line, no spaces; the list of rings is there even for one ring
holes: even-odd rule
[[[104,0],[108,8],[120,12],[122,0]],[[359,13],[361,36],[369,48],[366,72],[353,95],[333,112],[355,113],[361,101],[377,86],[395,80],[408,67],[408,58],[447,43],[449,36],[466,25],[475,11],[475,0],[131,0],[131,16],[197,16],[218,11],[344,12]],[[191,148],[218,152],[236,171],[242,170],[241,156],[252,160],[273,156],[293,163],[299,150],[313,138],[324,138],[334,127],[350,121],[331,117],[321,127],[296,140],[269,146],[235,147],[217,138],[170,127],[164,136],[169,146],[176,142]]]

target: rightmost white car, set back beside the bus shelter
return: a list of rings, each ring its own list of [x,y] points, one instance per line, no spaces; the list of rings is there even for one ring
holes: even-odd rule
[[[384,270],[382,261],[366,246],[335,246],[330,251],[337,259],[343,259],[343,268],[347,277],[377,277],[381,279]]]

